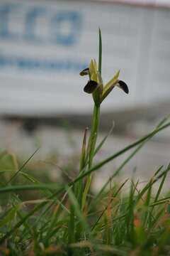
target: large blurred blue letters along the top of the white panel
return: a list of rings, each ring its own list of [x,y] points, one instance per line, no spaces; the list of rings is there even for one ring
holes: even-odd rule
[[[23,12],[23,8],[24,12]],[[13,16],[17,14],[23,23],[23,30],[12,32],[15,26]],[[47,33],[41,35],[42,26],[38,19],[48,24]],[[9,22],[12,21],[12,22]],[[38,26],[41,26],[40,29]],[[24,6],[23,4],[0,4],[0,38],[31,43],[52,43],[73,46],[79,41],[82,16],[79,11],[53,11],[46,6]]]

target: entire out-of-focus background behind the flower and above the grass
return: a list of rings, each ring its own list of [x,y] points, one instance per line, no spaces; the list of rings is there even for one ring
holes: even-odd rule
[[[1,150],[26,159],[40,146],[37,161],[53,154],[59,164],[79,159],[93,110],[79,72],[98,59],[98,27],[103,82],[120,69],[130,94],[115,88],[103,102],[99,141],[115,125],[96,161],[147,134],[169,114],[170,0],[0,0]],[[137,176],[148,178],[169,163],[169,153],[167,129],[125,166],[123,176],[136,169]],[[96,175],[96,186],[123,158]]]

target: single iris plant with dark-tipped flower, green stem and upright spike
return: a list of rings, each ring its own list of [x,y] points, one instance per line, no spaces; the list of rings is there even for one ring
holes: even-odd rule
[[[89,166],[89,169],[91,169],[91,166],[93,164],[95,148],[96,148],[96,139],[98,134],[101,102],[103,102],[103,100],[109,95],[109,93],[113,90],[114,87],[120,87],[120,89],[122,89],[127,94],[129,92],[128,85],[126,85],[126,83],[123,82],[123,80],[119,80],[120,70],[118,70],[118,72],[115,73],[113,78],[110,81],[108,81],[106,85],[103,85],[103,79],[101,76],[101,60],[102,60],[102,41],[101,41],[101,30],[99,29],[98,64],[96,63],[96,60],[91,60],[89,67],[85,68],[80,73],[81,76],[89,75],[89,81],[84,87],[84,92],[92,94],[94,99],[94,114],[93,114],[92,124],[91,124],[91,134],[89,137],[89,144],[87,146],[87,149],[86,150],[84,149],[82,153],[84,156],[81,155],[81,159],[86,159],[86,161],[84,161],[83,164],[81,162],[80,172],[83,171],[87,165]],[[90,185],[91,185],[91,175],[87,178],[86,186],[84,188],[82,207],[84,207],[85,205],[86,195],[89,192]]]

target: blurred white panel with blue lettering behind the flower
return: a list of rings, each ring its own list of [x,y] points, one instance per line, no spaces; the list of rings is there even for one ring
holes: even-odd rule
[[[0,113],[91,112],[87,78],[98,58],[103,81],[120,69],[130,94],[117,88],[103,111],[169,100],[170,10],[81,1],[0,0]]]

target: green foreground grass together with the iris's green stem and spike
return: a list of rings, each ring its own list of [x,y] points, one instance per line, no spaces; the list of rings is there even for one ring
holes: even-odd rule
[[[26,161],[1,152],[0,255],[170,255],[170,191],[162,192],[170,165],[160,166],[142,187],[131,177],[115,183],[115,177],[149,139],[170,127],[169,118],[94,164],[108,138],[106,135],[98,143],[101,102],[118,83],[119,75],[116,73],[102,95],[101,53],[99,30],[98,71],[93,71],[99,82],[93,92],[91,133],[84,132],[79,170],[77,163],[62,166],[64,177],[52,182],[49,165],[30,164],[36,151]],[[128,152],[98,193],[93,193],[93,174]],[[155,183],[159,183],[156,191]]]

